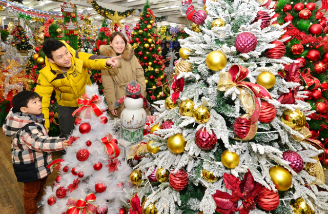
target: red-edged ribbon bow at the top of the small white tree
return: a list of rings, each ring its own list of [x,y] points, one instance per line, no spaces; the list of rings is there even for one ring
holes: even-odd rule
[[[76,109],[72,115],[75,116],[77,113],[77,116],[80,116],[81,113],[86,111],[84,118],[85,119],[91,119],[91,111],[96,115],[100,116],[103,114],[103,110],[101,110],[97,104],[101,103],[103,99],[101,97],[98,97],[96,94],[92,96],[92,98],[89,98],[89,95],[87,93],[84,93],[81,98],[77,100],[78,105],[82,105],[78,109]]]

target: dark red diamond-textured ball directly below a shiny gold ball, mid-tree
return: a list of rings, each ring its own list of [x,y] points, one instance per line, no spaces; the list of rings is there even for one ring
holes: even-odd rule
[[[213,130],[212,134],[210,134],[206,128],[199,129],[195,134],[195,143],[201,149],[210,150],[214,148],[217,143],[216,134]]]

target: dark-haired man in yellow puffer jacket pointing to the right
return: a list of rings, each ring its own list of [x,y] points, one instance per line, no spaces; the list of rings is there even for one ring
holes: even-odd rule
[[[58,119],[61,135],[68,137],[74,127],[72,113],[78,108],[77,100],[91,84],[89,69],[109,69],[118,65],[120,56],[93,55],[74,50],[64,41],[49,38],[43,44],[46,66],[40,70],[35,92],[42,97],[42,113],[49,130],[49,105],[53,89],[56,90]]]

